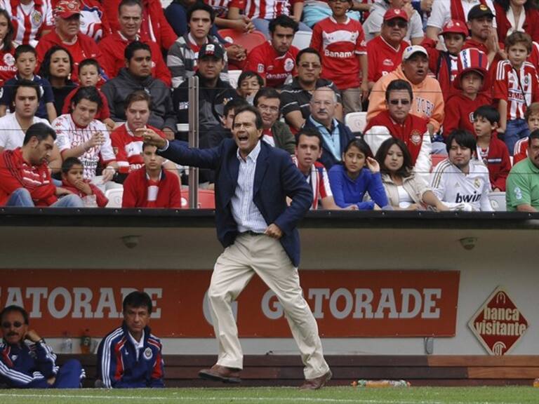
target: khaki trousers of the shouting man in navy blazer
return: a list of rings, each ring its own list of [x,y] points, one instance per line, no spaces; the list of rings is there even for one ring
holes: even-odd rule
[[[243,368],[243,352],[232,302],[254,274],[270,288],[284,309],[290,330],[300,349],[306,379],[328,372],[318,325],[300,287],[298,269],[286,255],[281,243],[265,235],[239,234],[215,262],[208,299],[215,337],[219,343],[218,365]]]

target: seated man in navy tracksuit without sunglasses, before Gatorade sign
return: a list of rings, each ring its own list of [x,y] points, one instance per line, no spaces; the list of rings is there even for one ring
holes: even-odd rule
[[[135,290],[124,299],[124,323],[99,344],[97,386],[164,387],[161,341],[147,324],[152,299]]]

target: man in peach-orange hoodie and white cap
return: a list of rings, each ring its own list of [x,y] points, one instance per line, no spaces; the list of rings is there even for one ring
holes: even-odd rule
[[[427,128],[431,136],[437,133],[441,123],[444,122],[444,97],[437,79],[427,76],[428,70],[427,50],[419,45],[408,46],[402,54],[401,65],[375,83],[369,97],[367,123],[387,109],[385,102],[387,86],[396,79],[402,79],[412,86],[413,100],[410,113],[429,120]]]

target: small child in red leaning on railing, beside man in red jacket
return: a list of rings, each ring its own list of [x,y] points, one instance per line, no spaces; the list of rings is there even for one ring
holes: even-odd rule
[[[62,188],[79,196],[86,208],[105,208],[109,200],[89,180],[84,180],[84,167],[76,157],[68,157],[62,163]]]

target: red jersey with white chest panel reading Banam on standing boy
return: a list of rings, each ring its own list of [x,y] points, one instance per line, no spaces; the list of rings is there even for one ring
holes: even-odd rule
[[[311,47],[321,55],[321,77],[333,81],[339,90],[360,86],[357,56],[366,54],[366,46],[361,22],[352,18],[339,23],[328,17],[314,25]]]

